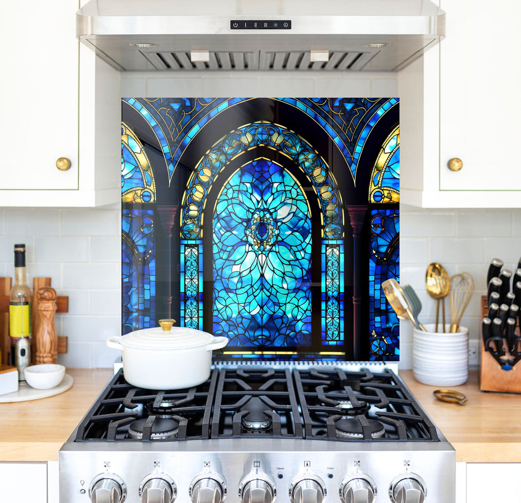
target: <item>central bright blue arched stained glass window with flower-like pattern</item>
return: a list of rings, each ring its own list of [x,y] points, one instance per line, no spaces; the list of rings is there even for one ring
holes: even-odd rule
[[[230,346],[311,345],[311,212],[286,169],[258,158],[224,183],[213,262],[215,335]]]

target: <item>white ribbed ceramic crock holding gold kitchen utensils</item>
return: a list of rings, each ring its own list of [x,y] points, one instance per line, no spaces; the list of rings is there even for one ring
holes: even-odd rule
[[[431,386],[458,386],[468,378],[468,328],[455,334],[413,330],[413,374],[417,381]],[[440,326],[438,326],[440,328]],[[449,331],[449,325],[445,330]]]

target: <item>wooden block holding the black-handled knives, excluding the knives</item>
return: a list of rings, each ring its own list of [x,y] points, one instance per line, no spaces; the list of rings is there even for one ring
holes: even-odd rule
[[[487,296],[481,296],[481,319],[487,316]],[[519,322],[516,327],[516,334],[519,335]],[[479,333],[481,343],[481,366],[480,366],[480,389],[481,391],[510,391],[521,393],[521,361],[512,367],[512,370],[502,370],[494,357],[485,351],[483,337],[481,337],[481,327]]]

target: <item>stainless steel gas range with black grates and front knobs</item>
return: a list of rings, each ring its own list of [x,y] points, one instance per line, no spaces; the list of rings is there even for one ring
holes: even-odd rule
[[[455,451],[385,365],[227,365],[182,390],[118,371],[61,448],[70,503],[450,503]]]

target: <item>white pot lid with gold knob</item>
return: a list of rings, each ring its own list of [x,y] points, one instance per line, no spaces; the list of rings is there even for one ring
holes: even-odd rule
[[[166,322],[166,323],[162,323]],[[213,342],[212,334],[187,327],[173,327],[174,320],[160,320],[161,327],[135,330],[121,337],[121,345],[140,349],[189,349],[207,346]],[[163,327],[166,326],[167,328]],[[168,326],[169,325],[169,326]]]

